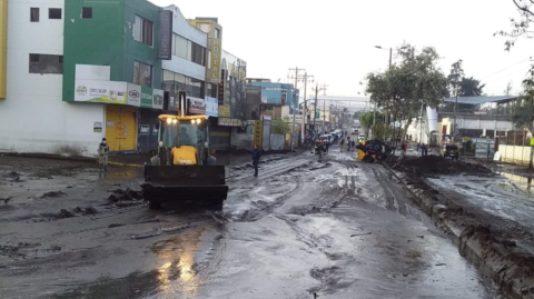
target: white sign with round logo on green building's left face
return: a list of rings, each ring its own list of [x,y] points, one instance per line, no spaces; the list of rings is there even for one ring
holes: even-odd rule
[[[113,104],[127,103],[126,94],[128,86],[126,82],[76,80],[75,88],[75,101]]]

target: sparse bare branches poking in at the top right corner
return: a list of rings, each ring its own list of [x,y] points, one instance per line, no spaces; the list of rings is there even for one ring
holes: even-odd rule
[[[515,4],[520,18],[510,19],[510,31],[501,30],[494,34],[507,38],[507,40],[504,42],[504,49],[506,51],[510,51],[510,49],[521,37],[525,37],[527,39],[534,38],[534,31],[530,28],[534,21],[534,0],[512,0],[512,2]]]

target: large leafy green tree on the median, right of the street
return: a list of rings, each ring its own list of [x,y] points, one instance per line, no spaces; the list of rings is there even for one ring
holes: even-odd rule
[[[366,92],[370,93],[372,102],[393,114],[394,122],[398,120],[408,127],[422,106],[435,108],[443,102],[448,96],[448,81],[437,67],[439,56],[434,48],[426,47],[418,52],[415,47],[403,44],[397,53],[403,59],[398,66],[367,76]],[[394,134],[395,128],[392,140]]]

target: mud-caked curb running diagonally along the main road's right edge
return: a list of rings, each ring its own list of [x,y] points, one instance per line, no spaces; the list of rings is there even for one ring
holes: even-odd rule
[[[488,233],[472,227],[461,227],[447,219],[451,207],[443,205],[435,196],[425,195],[425,190],[411,186],[387,165],[384,168],[393,175],[413,197],[417,206],[453,238],[462,257],[473,263],[483,275],[493,281],[511,298],[534,298],[534,277],[530,275],[534,257],[516,248],[488,238]]]

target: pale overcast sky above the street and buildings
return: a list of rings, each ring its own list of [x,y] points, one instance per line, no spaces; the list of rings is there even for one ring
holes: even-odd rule
[[[503,94],[510,81],[517,93],[534,58],[534,41],[506,52],[505,39],[493,37],[517,16],[512,0],[150,1],[176,4],[189,19],[217,17],[222,48],[247,61],[247,77],[287,81],[298,66],[332,96],[364,94],[358,82],[388,63],[388,51],[375,46],[435,47],[445,74],[462,59],[465,74],[486,83],[490,96]]]

